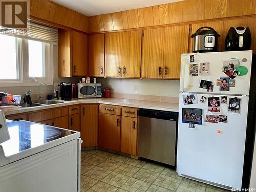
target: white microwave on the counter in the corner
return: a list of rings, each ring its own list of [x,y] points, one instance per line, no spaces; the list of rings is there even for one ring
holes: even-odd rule
[[[78,98],[101,97],[101,83],[77,83]]]

